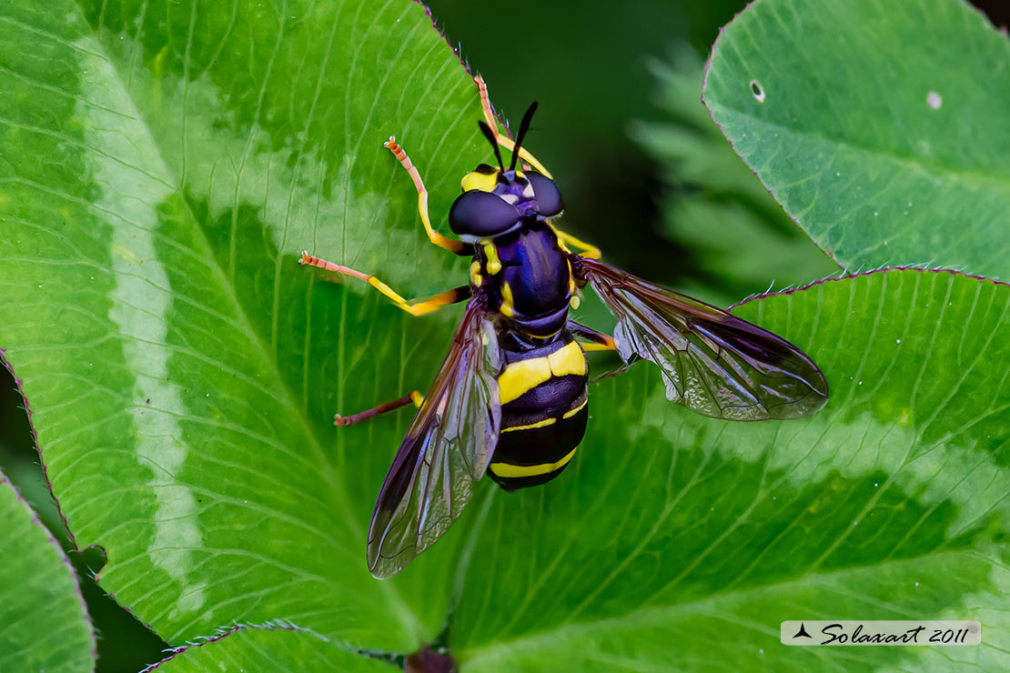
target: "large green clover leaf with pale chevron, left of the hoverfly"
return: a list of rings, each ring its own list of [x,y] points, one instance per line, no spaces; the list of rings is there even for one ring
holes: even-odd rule
[[[443,222],[487,154],[477,89],[417,3],[282,5],[0,6],[0,344],[78,546],[158,634],[284,619],[412,651],[465,526],[373,581],[365,530],[409,418],[331,420],[424,387],[453,315],[297,259],[406,296],[460,285],[382,143]]]

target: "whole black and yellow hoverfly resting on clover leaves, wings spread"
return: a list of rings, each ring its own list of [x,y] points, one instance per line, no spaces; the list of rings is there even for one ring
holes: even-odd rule
[[[395,137],[385,143],[414,182],[431,242],[473,257],[470,283],[408,302],[374,275],[308,252],[300,260],[361,278],[413,315],[469,300],[427,395],[414,390],[334,420],[348,425],[411,403],[418,407],[369,526],[368,567],[379,578],[400,572],[438,540],[485,475],[512,491],[561,474],[586,432],[585,351],[616,350],[625,363],[650,360],[668,399],[714,418],[795,419],[827,402],[824,375],[793,344],[608,266],[599,249],[558,229],[552,221],[562,213],[561,192],[522,147],[536,103],[513,143],[498,133],[487,88],[480,77],[476,82],[485,117],[478,123],[498,165],[482,163],[463,178],[448,214],[458,239],[432,228],[420,174]],[[508,169],[499,145],[512,152]],[[569,318],[578,305],[576,288],[587,284],[616,316],[613,336]]]

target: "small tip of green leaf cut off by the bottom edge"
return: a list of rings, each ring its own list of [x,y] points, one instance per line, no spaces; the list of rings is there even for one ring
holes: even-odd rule
[[[305,631],[283,627],[235,627],[221,636],[181,648],[157,666],[166,673],[303,671],[393,673],[390,664],[337,648]]]

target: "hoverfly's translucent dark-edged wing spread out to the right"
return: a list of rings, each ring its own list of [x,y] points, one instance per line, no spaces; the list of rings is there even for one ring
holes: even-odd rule
[[[785,339],[599,261],[576,269],[617,317],[621,358],[658,364],[669,400],[732,421],[795,419],[827,402],[824,374]]]

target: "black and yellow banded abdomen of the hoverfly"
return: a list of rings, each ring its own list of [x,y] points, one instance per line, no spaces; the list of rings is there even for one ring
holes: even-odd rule
[[[507,490],[549,481],[586,433],[586,356],[571,335],[522,351],[503,350],[498,376],[501,432],[488,475]]]

